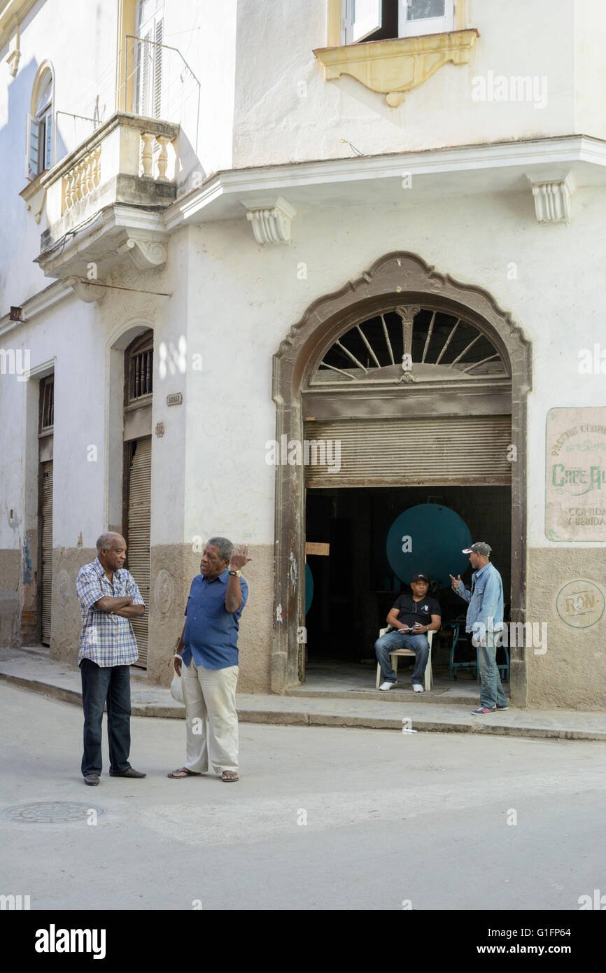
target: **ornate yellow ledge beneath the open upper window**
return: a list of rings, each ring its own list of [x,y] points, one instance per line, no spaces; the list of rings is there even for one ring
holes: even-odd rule
[[[366,88],[384,94],[387,104],[397,108],[406,91],[418,88],[443,64],[467,64],[479,36],[472,27],[445,34],[317,48],[313,54],[324,68],[326,81],[349,74]]]

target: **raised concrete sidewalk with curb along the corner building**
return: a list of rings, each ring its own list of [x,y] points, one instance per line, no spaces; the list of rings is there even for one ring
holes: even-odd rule
[[[150,684],[147,677],[132,669],[131,701],[134,716],[183,719],[185,709],[175,703],[168,689]],[[78,667],[57,662],[44,648],[0,650],[0,679],[34,693],[68,703],[81,704]],[[606,712],[576,709],[517,709],[489,716],[472,716],[478,705],[478,687],[460,685],[437,689],[429,694],[400,690],[397,694],[338,690],[328,680],[326,688],[317,685],[274,694],[236,696],[238,718],[242,723],[303,724],[308,726],[368,727],[442,733],[498,734],[511,737],[606,740]],[[419,700],[420,696],[420,700]],[[442,702],[444,700],[444,702]]]

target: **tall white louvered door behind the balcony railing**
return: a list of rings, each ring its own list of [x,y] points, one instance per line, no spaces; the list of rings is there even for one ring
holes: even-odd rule
[[[164,0],[138,0],[135,113],[159,119],[162,109]]]

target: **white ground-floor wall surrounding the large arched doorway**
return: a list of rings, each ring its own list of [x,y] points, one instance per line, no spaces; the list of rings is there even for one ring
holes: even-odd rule
[[[258,246],[242,221],[193,232],[190,341],[205,365],[201,380],[188,378],[186,532],[228,523],[245,540],[272,539],[271,356],[309,304],[402,249],[485,288],[532,342],[528,544],[558,546],[545,536],[545,416],[554,406],[604,402],[604,377],[580,375],[578,351],[603,336],[601,257],[587,241],[600,233],[605,205],[602,192],[579,191],[570,226],[538,225],[527,194],[406,211],[326,209],[298,216],[292,244],[282,247]],[[306,280],[297,276],[301,262]]]

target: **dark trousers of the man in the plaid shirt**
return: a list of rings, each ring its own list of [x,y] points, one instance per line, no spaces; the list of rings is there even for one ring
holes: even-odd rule
[[[107,704],[107,738],[110,771],[122,774],[130,767],[130,667],[101,667],[89,659],[80,663],[82,705],[85,712],[82,774],[101,773],[101,722]]]

